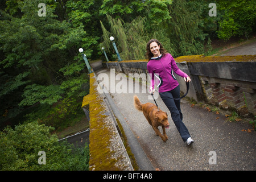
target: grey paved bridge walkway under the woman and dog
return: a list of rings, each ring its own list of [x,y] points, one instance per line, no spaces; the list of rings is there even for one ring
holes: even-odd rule
[[[98,70],[96,75],[98,82],[109,79],[109,88],[106,86],[105,88],[110,90],[110,71],[107,69]],[[115,85],[120,82],[118,79],[116,77]],[[132,84],[133,80],[127,77],[120,79],[127,79],[128,90],[128,85]],[[114,82],[113,79],[111,81]],[[141,88],[146,89],[143,85]],[[139,93],[110,93],[112,96],[110,99],[117,106],[119,113],[123,116],[156,170],[256,169],[256,132],[247,133],[244,131],[252,128],[248,123],[225,121],[224,115],[191,107],[191,104],[182,100],[183,122],[195,140],[195,143],[187,146],[171,119],[170,111],[159,96],[156,102],[160,109],[167,111],[170,122],[170,128],[167,129],[169,139],[164,143],[160,137],[155,135],[143,113],[134,108],[133,96],[135,94],[142,104],[146,102],[155,104],[154,100],[150,100],[150,94],[142,93],[141,90]],[[159,130],[162,132],[160,127]],[[129,140],[129,137],[127,138]]]

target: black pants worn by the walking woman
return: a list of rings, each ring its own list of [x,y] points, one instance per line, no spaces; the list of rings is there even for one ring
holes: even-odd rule
[[[187,139],[191,136],[187,127],[182,122],[183,115],[180,110],[180,100],[172,99],[180,98],[180,86],[178,85],[175,89],[168,92],[159,92],[159,94],[164,104],[166,104],[168,109],[171,111],[172,120],[174,121],[174,124],[179,131],[181,138],[184,142],[186,142]]]

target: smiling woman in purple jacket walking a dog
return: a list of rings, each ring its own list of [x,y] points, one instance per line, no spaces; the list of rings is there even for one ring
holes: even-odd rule
[[[155,92],[154,74],[157,73],[158,75],[155,76],[158,77],[160,81],[158,85],[160,97],[171,111],[172,120],[181,138],[189,145],[193,143],[194,140],[191,138],[187,127],[182,122],[183,115],[180,110],[180,100],[173,99],[180,98],[180,86],[172,71],[183,77],[187,82],[191,81],[191,79],[177,67],[172,55],[164,50],[162,44],[157,39],[151,39],[147,43],[146,49],[148,57],[147,70],[152,74],[150,92],[153,94]]]

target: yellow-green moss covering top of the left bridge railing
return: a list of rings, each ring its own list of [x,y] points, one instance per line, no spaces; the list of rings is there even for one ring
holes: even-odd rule
[[[90,170],[103,171],[103,170],[120,170],[115,166],[118,158],[113,158],[113,151],[110,151],[110,139],[114,133],[109,129],[106,119],[106,107],[100,94],[97,92],[97,81],[94,73],[90,74],[90,94],[84,97],[82,107],[89,104],[90,112]]]

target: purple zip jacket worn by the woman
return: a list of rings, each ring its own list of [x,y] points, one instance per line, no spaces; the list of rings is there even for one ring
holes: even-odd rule
[[[179,85],[172,71],[181,77],[188,77],[177,67],[174,57],[170,53],[164,56],[152,57],[147,63],[147,70],[152,74],[150,86],[154,88],[155,78],[157,78],[158,82],[156,84],[159,87],[159,92],[173,90]]]

